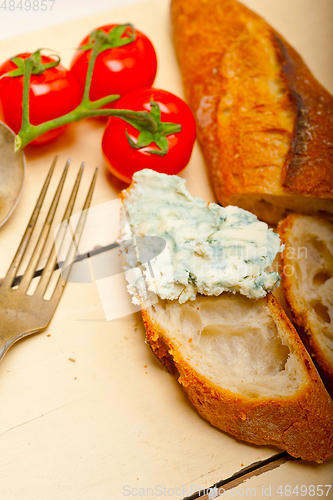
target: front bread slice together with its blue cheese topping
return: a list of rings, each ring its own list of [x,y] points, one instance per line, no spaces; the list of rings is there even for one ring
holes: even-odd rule
[[[200,415],[294,457],[333,455],[333,401],[267,294],[278,280],[267,270],[278,235],[244,210],[193,198],[177,176],[138,172],[121,198],[123,266],[147,342]],[[140,238],[165,239],[166,247],[159,255],[150,248],[147,264],[135,249]],[[159,298],[149,304],[154,290]]]

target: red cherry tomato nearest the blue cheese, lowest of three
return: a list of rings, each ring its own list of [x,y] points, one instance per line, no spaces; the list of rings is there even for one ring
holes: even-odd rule
[[[178,174],[191,158],[195,141],[195,122],[190,108],[179,97],[153,88],[141,88],[129,92],[116,102],[117,109],[150,111],[151,99],[160,107],[161,121],[179,123],[181,131],[167,135],[169,150],[164,156],[150,153],[158,150],[155,143],[135,149],[126,137],[136,142],[139,131],[121,118],[110,117],[102,140],[104,158],[111,172],[124,182],[130,183],[138,170],[149,168],[165,174]]]

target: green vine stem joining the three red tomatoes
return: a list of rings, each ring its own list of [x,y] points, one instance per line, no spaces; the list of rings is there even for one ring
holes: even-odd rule
[[[122,35],[125,33],[126,29],[130,27],[132,33],[127,39]],[[126,109],[100,109],[107,104],[119,99],[119,95],[109,95],[103,97],[102,99],[98,99],[96,101],[91,101],[89,99],[89,92],[91,86],[91,80],[94,70],[94,65],[97,56],[107,50],[108,48],[112,48],[115,46],[125,45],[126,43],[131,43],[135,38],[134,28],[131,25],[122,25],[121,29],[119,26],[116,28],[118,32],[115,34],[110,32],[109,34],[104,33],[103,31],[97,30],[91,34],[90,44],[86,47],[83,47],[83,50],[87,50],[88,48],[92,48],[91,57],[89,60],[87,76],[85,81],[85,87],[83,92],[83,97],[81,103],[69,113],[60,116],[59,118],[55,118],[53,120],[46,121],[41,123],[40,125],[32,125],[29,120],[29,88],[30,88],[30,78],[31,74],[36,74],[36,64],[38,62],[38,72],[40,74],[40,51],[36,51],[32,56],[28,57],[23,61],[24,67],[21,66],[21,73],[23,74],[23,98],[22,98],[22,124],[19,133],[15,137],[14,149],[18,151],[24,148],[31,141],[39,137],[40,135],[48,132],[49,130],[53,130],[58,127],[62,127],[72,122],[76,122],[82,120],[83,118],[91,117],[91,116],[117,116],[122,118],[127,123],[131,124],[137,130],[140,131],[141,138],[151,138],[152,142],[155,142],[157,146],[160,148],[158,151],[153,151],[153,154],[164,155],[168,152],[168,144],[166,140],[166,135],[180,132],[181,126],[178,123],[166,123],[160,121],[160,114],[156,113],[156,106],[158,104],[152,101],[152,110],[148,111],[132,111]],[[133,38],[134,35],[134,38]],[[118,40],[118,42],[117,42]],[[118,45],[117,45],[118,43]],[[37,58],[37,62],[36,62]],[[14,61],[15,62],[15,61]],[[59,60],[58,62],[59,63]],[[21,64],[21,63],[20,63]],[[45,70],[44,65],[44,70]],[[12,74],[8,73],[4,76],[18,76],[18,70],[14,70]],[[16,73],[14,75],[14,73]],[[142,147],[141,144],[143,142],[147,142],[147,140],[142,141],[140,139],[137,143],[129,140],[129,143],[132,147]]]

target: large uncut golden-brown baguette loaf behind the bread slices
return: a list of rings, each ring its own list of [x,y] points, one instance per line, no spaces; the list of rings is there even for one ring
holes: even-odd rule
[[[176,52],[216,198],[276,224],[333,217],[333,97],[236,0],[172,0]]]

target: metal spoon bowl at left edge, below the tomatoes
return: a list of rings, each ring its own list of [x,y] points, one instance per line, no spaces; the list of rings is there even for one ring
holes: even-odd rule
[[[0,227],[19,201],[25,174],[23,151],[14,153],[14,132],[0,122]]]

